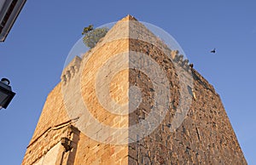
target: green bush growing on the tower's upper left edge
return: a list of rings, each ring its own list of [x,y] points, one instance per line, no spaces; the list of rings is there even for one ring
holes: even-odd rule
[[[96,43],[100,41],[102,37],[104,37],[108,32],[108,27],[101,27],[94,29],[92,25],[84,27],[84,31],[82,31],[83,42],[89,48],[94,48]]]

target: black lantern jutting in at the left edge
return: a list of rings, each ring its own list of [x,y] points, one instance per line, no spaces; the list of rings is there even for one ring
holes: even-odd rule
[[[14,96],[15,93],[9,86],[9,80],[7,78],[2,78],[0,82],[0,109],[6,109]]]

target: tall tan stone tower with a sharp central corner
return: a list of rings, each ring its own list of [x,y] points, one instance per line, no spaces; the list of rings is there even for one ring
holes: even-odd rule
[[[128,15],[64,69],[22,164],[247,164],[219,95]]]

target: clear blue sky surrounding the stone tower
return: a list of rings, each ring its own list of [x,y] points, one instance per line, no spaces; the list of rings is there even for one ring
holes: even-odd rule
[[[20,164],[47,94],[60,82],[67,54],[84,26],[127,14],[174,37],[223,101],[241,149],[256,164],[255,1],[27,1],[0,43],[0,77],[14,100],[0,111],[0,164]],[[216,54],[210,54],[212,48]]]

